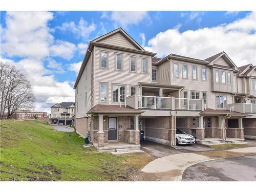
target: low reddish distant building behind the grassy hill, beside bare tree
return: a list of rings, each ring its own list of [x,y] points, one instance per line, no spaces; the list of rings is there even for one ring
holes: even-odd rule
[[[28,119],[46,119],[46,112],[35,112],[35,111],[17,111],[17,120],[28,120]]]

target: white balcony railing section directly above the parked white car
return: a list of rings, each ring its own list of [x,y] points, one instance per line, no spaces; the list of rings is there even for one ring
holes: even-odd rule
[[[202,99],[175,98],[176,110],[202,110]]]

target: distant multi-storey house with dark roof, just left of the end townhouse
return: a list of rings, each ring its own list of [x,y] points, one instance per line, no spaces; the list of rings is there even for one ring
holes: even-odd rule
[[[73,124],[74,102],[61,102],[51,106],[50,123],[57,125]]]

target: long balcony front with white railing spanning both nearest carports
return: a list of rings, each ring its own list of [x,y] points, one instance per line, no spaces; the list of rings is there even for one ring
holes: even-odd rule
[[[132,95],[127,105],[135,109],[203,111],[202,99]]]

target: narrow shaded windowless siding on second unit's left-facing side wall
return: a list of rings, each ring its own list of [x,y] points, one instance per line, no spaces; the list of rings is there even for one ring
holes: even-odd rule
[[[169,84],[170,83],[170,65],[169,61],[165,61],[158,66],[158,83]]]

